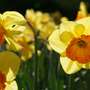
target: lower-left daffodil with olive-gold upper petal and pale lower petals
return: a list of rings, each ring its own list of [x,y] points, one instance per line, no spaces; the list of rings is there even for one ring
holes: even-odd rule
[[[0,90],[18,90],[15,81],[20,58],[9,51],[0,52]]]

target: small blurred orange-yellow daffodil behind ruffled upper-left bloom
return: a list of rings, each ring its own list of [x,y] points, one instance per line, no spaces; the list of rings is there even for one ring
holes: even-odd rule
[[[25,37],[19,38],[17,42],[22,46],[20,52],[21,59],[26,61],[32,57],[34,53],[34,42],[28,43]]]

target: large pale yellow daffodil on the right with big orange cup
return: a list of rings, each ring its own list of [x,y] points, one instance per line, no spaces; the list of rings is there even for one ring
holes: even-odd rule
[[[60,54],[67,74],[90,69],[90,17],[61,23],[49,38],[50,46]]]

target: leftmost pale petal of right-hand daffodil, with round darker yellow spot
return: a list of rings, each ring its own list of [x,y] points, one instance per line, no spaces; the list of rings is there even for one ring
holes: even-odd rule
[[[63,28],[55,30],[49,37],[50,46],[58,53],[64,52],[69,42],[74,38],[72,32],[69,30],[63,30]]]

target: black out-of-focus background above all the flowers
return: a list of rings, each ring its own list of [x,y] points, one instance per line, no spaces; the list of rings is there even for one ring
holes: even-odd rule
[[[46,12],[60,11],[70,19],[75,18],[80,1],[87,4],[88,10],[90,0],[0,0],[0,12],[16,10],[24,14],[28,8]]]

